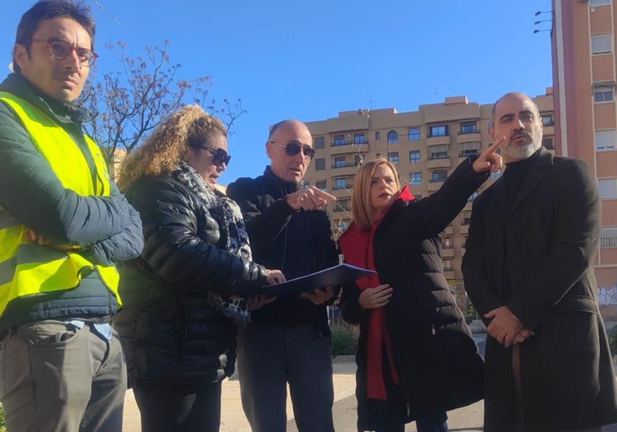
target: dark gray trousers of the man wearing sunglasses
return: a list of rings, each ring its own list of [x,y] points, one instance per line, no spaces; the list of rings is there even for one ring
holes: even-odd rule
[[[242,408],[253,432],[285,432],[287,383],[300,432],[334,432],[331,337],[314,326],[256,326],[238,334]]]

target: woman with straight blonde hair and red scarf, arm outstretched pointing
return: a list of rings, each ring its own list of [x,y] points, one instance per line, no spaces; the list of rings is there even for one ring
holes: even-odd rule
[[[376,270],[344,286],[344,319],[360,325],[358,431],[447,431],[447,410],[482,398],[482,359],[444,278],[439,233],[501,167],[499,143],[466,159],[439,191],[416,200],[386,159],[354,180],[346,262]]]

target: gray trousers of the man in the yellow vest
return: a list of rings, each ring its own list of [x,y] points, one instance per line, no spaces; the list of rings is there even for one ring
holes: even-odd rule
[[[43,320],[0,341],[7,432],[122,431],[126,364],[118,334]]]

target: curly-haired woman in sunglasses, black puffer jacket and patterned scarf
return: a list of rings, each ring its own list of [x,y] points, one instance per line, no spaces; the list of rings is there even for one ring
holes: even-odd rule
[[[165,118],[123,164],[118,184],[141,214],[143,253],[120,268],[114,317],[144,431],[218,431],[236,325],[284,280],[251,259],[239,208],[215,185],[226,130],[198,106]]]

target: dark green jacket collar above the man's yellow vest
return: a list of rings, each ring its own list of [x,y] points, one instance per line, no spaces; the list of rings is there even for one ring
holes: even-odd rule
[[[6,91],[30,102],[60,124],[76,123],[81,126],[81,123],[90,122],[96,117],[96,113],[79,104],[65,104],[50,98],[19,73],[10,73],[6,80],[0,83],[0,91]]]

